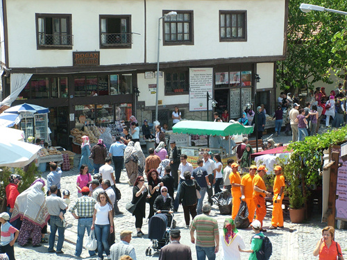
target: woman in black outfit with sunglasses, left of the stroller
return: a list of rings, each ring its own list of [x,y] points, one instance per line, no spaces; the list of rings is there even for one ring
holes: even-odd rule
[[[148,196],[149,191],[147,190],[146,185],[144,184],[144,177],[138,176],[135,180],[133,187],[133,200],[131,203],[136,204],[135,211],[133,216],[135,216],[135,227],[137,230],[137,236],[142,237],[144,233],[141,231],[143,219],[146,216],[146,197]]]

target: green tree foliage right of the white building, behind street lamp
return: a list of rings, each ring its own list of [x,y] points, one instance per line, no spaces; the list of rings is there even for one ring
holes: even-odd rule
[[[347,38],[339,37],[346,35],[341,33],[347,25],[346,17],[332,12],[305,13],[299,8],[301,3],[302,0],[289,1],[287,58],[278,62],[277,70],[281,89],[291,89],[291,92],[302,87],[313,89],[319,80],[331,84],[330,69],[344,67],[347,61],[346,49],[343,53],[342,48],[346,48]],[[307,3],[347,10],[347,1],[312,0]]]

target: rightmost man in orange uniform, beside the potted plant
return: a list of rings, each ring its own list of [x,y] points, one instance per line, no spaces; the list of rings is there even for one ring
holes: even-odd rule
[[[283,191],[285,190],[285,177],[282,175],[281,166],[277,165],[273,168],[273,171],[275,171],[276,177],[273,181],[273,208],[271,227],[269,229],[283,228],[282,200]]]

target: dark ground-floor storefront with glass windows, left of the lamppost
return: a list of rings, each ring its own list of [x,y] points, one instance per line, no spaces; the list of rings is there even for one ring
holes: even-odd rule
[[[69,148],[72,128],[128,121],[133,114],[134,83],[133,72],[33,74],[12,106],[32,103],[49,107],[52,146]]]

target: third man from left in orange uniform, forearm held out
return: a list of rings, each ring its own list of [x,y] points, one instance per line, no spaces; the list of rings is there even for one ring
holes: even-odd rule
[[[264,175],[266,174],[266,168],[264,165],[258,167],[258,173],[253,178],[253,201],[255,204],[255,219],[259,220],[262,223],[266,215],[266,205],[265,205],[265,196],[271,196],[271,193],[266,191],[265,182],[263,180]],[[262,232],[266,232],[265,229],[261,228]]]

